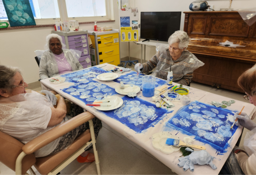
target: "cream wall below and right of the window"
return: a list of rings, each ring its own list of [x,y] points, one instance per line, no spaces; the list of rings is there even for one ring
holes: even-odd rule
[[[119,11],[116,0],[109,0],[110,9],[113,13],[110,15],[116,20],[111,23],[98,23],[98,26],[108,25],[113,29],[119,29]],[[94,24],[81,24],[80,29],[93,29]],[[39,67],[34,57],[35,50],[43,50],[45,38],[54,30],[53,27],[28,28],[0,30],[0,64],[17,66],[23,72],[26,83],[38,81]],[[128,56],[128,43],[120,44],[121,58]]]

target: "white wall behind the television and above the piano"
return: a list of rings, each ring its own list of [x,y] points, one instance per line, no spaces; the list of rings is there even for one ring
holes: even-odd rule
[[[184,11],[190,11],[189,5],[195,0],[131,0],[135,1],[135,6],[139,10],[139,20],[140,12],[145,11],[182,11],[180,30],[183,30],[184,26]],[[213,5],[214,10],[219,11],[221,8],[229,7],[229,0],[207,0],[209,5]],[[256,7],[256,0],[233,0],[232,8],[234,10],[252,8]],[[140,33],[140,31],[139,31]],[[143,39],[141,39],[143,40]],[[144,46],[143,46],[144,47]],[[143,48],[144,49],[144,48]],[[130,43],[130,56],[140,59],[141,58],[141,45],[136,45]],[[122,51],[121,51],[122,52]],[[155,47],[146,47],[146,60],[149,60],[153,55],[155,55]],[[143,55],[144,59],[144,55]]]

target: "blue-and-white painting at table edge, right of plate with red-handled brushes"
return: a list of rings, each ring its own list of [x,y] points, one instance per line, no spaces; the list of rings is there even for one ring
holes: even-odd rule
[[[158,123],[166,114],[172,112],[157,108],[155,104],[142,100],[139,97],[124,96],[124,104],[111,111],[101,111],[105,115],[120,121],[132,130],[140,133]]]

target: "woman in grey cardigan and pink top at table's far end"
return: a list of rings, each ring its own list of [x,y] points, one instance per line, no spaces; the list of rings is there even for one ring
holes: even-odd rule
[[[81,70],[83,66],[78,62],[76,53],[72,50],[62,49],[61,36],[50,34],[46,37],[49,50],[44,51],[40,59],[39,76],[46,79],[60,74]]]

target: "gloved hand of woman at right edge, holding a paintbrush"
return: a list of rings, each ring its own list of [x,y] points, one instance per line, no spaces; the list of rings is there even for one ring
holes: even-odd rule
[[[243,127],[245,127],[248,130],[252,130],[256,127],[255,122],[253,122],[250,117],[247,116],[247,114],[245,112],[242,112],[240,115],[238,115],[239,112],[236,112],[234,115],[234,120],[236,120],[236,118],[238,118],[238,120],[236,121],[236,125],[238,127],[241,127],[241,125]]]

